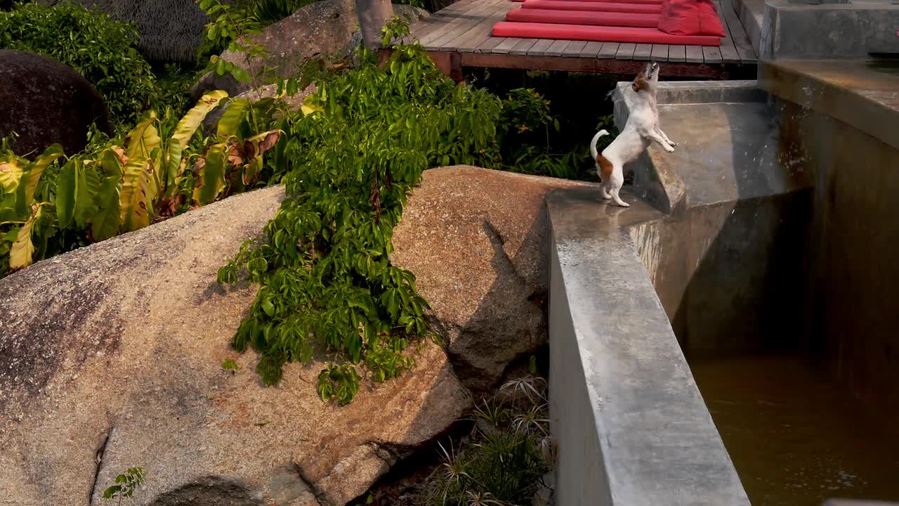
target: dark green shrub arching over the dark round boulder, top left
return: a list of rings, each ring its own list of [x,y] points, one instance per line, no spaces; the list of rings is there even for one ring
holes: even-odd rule
[[[0,48],[35,52],[74,68],[103,96],[116,123],[133,122],[157,97],[137,41],[133,25],[73,2],[18,4],[0,12]]]

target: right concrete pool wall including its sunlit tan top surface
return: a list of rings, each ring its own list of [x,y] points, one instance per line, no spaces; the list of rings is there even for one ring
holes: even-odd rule
[[[899,76],[858,63],[765,63],[781,149],[814,181],[806,346],[899,421]],[[886,127],[886,128],[885,128]]]

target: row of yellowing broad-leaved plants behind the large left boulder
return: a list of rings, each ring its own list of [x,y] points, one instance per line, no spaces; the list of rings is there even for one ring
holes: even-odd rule
[[[33,161],[0,153],[0,276],[256,185],[280,131],[255,133],[254,105],[237,99],[203,139],[200,123],[226,96],[203,95],[178,122],[149,112],[123,142],[71,158],[58,144]]]

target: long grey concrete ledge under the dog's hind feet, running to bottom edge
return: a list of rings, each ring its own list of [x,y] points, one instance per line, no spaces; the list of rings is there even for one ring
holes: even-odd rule
[[[556,504],[748,506],[626,231],[661,214],[547,196]]]

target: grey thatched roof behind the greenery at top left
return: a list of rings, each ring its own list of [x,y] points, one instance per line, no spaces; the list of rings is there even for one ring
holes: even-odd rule
[[[203,26],[209,21],[193,0],[77,1],[134,23],[140,32],[138,50],[147,59],[195,60]]]

